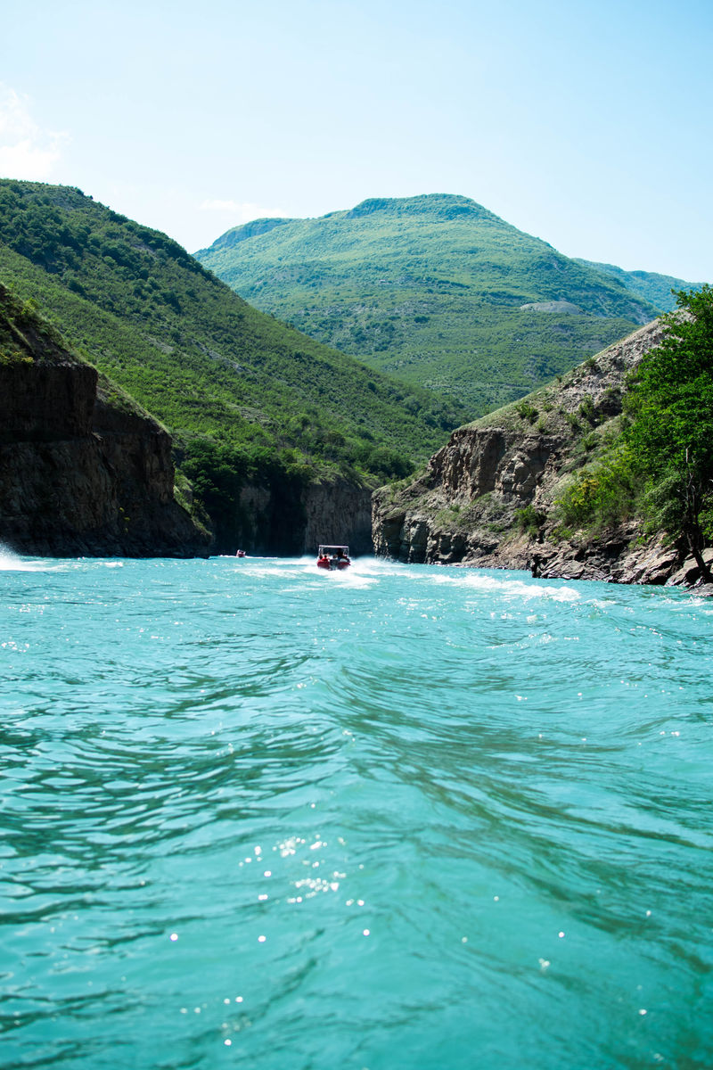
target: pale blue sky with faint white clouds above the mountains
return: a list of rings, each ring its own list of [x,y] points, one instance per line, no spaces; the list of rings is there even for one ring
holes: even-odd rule
[[[713,280],[711,0],[4,4],[0,177],[189,251],[470,197],[567,256]]]

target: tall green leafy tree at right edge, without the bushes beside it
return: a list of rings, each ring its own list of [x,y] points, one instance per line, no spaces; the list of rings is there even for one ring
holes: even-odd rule
[[[650,508],[711,583],[701,551],[713,537],[713,288],[682,290],[677,304],[630,384],[624,437],[648,477]]]

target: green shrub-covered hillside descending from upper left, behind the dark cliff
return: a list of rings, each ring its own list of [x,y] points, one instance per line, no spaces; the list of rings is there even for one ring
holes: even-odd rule
[[[257,311],[175,242],[80,190],[0,181],[0,277],[161,419],[214,519],[246,479],[400,477],[467,413]]]

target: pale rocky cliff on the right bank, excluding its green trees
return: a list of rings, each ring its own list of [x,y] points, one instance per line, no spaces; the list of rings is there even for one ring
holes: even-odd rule
[[[626,374],[662,338],[654,321],[522,401],[459,428],[410,484],[373,496],[377,554],[407,562],[528,568],[542,577],[692,582],[676,548],[616,530],[557,531],[570,474],[616,429]]]

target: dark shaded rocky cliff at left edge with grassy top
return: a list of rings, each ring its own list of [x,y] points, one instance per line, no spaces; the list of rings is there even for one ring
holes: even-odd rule
[[[20,553],[192,556],[168,432],[0,287],[0,541]]]

